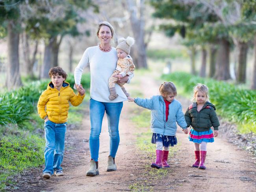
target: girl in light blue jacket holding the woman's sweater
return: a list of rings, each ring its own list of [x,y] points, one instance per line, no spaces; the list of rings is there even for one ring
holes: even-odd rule
[[[152,168],[170,167],[167,163],[169,146],[177,144],[177,125],[182,127],[185,134],[187,123],[182,112],[182,105],[175,99],[177,90],[172,82],[161,84],[160,95],[150,99],[131,98],[130,102],[151,110],[151,143],[156,144],[156,162],[152,162]]]

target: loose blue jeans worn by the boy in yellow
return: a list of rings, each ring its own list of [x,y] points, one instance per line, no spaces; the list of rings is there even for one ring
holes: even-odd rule
[[[53,174],[54,170],[62,170],[65,148],[66,123],[57,124],[50,120],[45,122],[45,169],[43,173]]]

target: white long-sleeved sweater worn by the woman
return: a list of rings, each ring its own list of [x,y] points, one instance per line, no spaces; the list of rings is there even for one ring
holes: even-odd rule
[[[81,83],[83,69],[89,64],[91,72],[91,98],[99,102],[117,103],[127,100],[121,87],[116,83],[115,88],[119,95],[115,100],[109,100],[110,94],[108,79],[113,74],[117,66],[117,50],[111,48],[109,52],[102,52],[99,46],[89,47],[83,53],[83,56],[74,71],[74,79],[77,85]],[[129,76],[130,79],[133,75]]]

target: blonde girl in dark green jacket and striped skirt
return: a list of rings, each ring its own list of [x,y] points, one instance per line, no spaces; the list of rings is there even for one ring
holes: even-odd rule
[[[215,113],[215,106],[209,102],[208,87],[198,83],[194,87],[194,102],[185,113],[187,126],[192,126],[189,133],[189,140],[194,142],[195,163],[192,167],[206,169],[204,161],[206,158],[206,145],[214,142],[214,137],[218,136],[219,120]],[[214,128],[214,135],[211,127]]]

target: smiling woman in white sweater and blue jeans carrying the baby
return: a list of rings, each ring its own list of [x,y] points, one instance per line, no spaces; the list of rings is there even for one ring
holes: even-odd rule
[[[119,95],[113,101],[110,101],[108,79],[113,73],[117,65],[117,51],[111,46],[114,29],[109,22],[103,21],[98,24],[97,37],[100,44],[89,47],[83,53],[82,59],[74,72],[74,79],[77,89],[80,89],[80,82],[83,69],[90,64],[91,71],[91,90],[90,90],[90,119],[91,133],[89,138],[89,148],[91,152],[91,164],[86,172],[87,176],[95,176],[98,171],[98,153],[100,147],[100,132],[102,127],[102,119],[106,111],[108,118],[108,131],[110,136],[110,153],[108,156],[107,171],[117,170],[115,164],[115,155],[119,146],[119,117],[123,106],[123,101],[127,100],[126,95],[119,85],[116,85],[116,91]],[[132,76],[130,76],[130,79]],[[121,82],[128,81],[129,76],[120,79]]]

